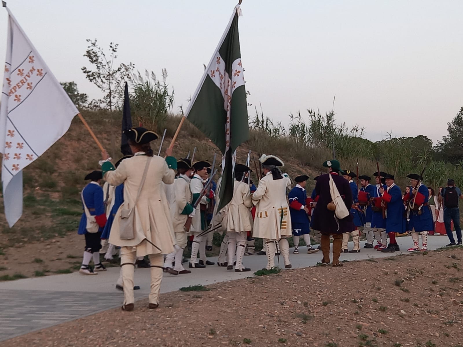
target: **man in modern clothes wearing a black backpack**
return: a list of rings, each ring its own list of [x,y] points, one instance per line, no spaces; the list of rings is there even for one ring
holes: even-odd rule
[[[450,223],[453,220],[455,231],[457,232],[457,245],[462,244],[462,229],[460,228],[460,209],[458,208],[458,199],[463,199],[463,194],[458,187],[455,186],[455,180],[447,180],[447,186],[442,189],[439,200],[444,204],[444,224],[445,231],[449,237],[450,243],[447,246],[454,246],[455,239],[453,237]]]

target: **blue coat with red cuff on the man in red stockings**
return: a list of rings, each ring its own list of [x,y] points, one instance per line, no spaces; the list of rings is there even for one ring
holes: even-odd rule
[[[388,203],[386,215],[387,233],[405,233],[406,218],[404,217],[404,204],[402,191],[399,186],[392,186],[389,192],[384,192],[383,199]]]

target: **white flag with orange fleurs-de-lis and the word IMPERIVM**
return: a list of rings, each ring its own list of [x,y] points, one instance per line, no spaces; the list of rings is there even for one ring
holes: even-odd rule
[[[6,6],[5,6],[6,7]],[[0,106],[1,180],[8,225],[22,215],[22,170],[68,131],[79,113],[8,8]]]

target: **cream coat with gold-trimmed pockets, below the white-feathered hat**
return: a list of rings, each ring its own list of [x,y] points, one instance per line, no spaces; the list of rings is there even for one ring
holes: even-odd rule
[[[273,180],[270,172],[259,181],[257,190],[252,194],[252,202],[256,205],[253,237],[279,240],[282,236],[291,235],[291,218],[286,199],[286,189],[290,187],[291,180],[288,177]]]

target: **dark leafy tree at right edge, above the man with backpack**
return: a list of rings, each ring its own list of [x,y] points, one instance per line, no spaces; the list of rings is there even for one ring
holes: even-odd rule
[[[440,152],[445,161],[457,163],[463,160],[463,107],[447,124],[448,135],[438,142],[436,150]]]

